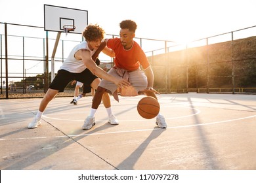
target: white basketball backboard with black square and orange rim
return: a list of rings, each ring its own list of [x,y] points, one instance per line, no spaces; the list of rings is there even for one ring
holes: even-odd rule
[[[64,32],[64,25],[75,26],[70,33],[81,34],[88,25],[88,11],[44,5],[45,31]]]

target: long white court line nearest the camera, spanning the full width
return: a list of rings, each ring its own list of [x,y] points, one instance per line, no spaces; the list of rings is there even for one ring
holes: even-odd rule
[[[195,125],[181,125],[176,127],[167,127],[167,129],[177,129],[177,128],[186,128],[186,127],[196,127],[201,125],[213,125],[213,124],[222,124],[227,122],[234,122],[238,120],[245,120],[248,118],[256,118],[256,115],[253,116],[247,116],[244,118],[236,118],[232,120],[224,120],[219,122],[209,122],[206,124],[195,124]],[[28,140],[28,139],[47,139],[47,138],[64,138],[64,137],[86,137],[89,135],[108,135],[108,134],[115,134],[115,133],[132,133],[132,132],[140,132],[140,131],[154,131],[154,130],[164,130],[161,128],[157,129],[137,129],[137,130],[128,130],[128,131],[112,131],[112,132],[104,132],[104,133],[87,133],[87,134],[81,134],[81,135],[62,135],[62,136],[55,136],[55,137],[24,137],[24,138],[14,138],[14,139],[0,139],[0,141],[17,141],[17,140]]]

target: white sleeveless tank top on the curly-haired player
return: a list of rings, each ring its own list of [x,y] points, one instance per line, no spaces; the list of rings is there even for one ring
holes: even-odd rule
[[[69,71],[70,73],[83,72],[87,67],[85,66],[82,60],[75,59],[75,53],[81,49],[89,50],[91,53],[91,56],[93,56],[93,54],[96,51],[96,50],[93,50],[93,51],[90,50],[90,48],[88,47],[88,43],[86,41],[83,41],[72,49],[68,58],[66,58],[63,61],[62,66],[60,66],[60,69],[64,69],[66,71]]]

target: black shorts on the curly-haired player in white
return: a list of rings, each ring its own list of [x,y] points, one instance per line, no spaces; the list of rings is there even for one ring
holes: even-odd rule
[[[70,73],[66,70],[58,70],[58,74],[54,77],[49,88],[58,90],[58,92],[64,92],[64,89],[72,80],[77,80],[83,83],[83,92],[89,93],[91,92],[91,83],[96,78],[98,77],[93,75],[89,69],[85,69],[85,71],[81,73]]]

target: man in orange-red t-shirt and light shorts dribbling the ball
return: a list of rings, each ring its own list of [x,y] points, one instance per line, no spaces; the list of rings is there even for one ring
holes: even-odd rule
[[[154,74],[145,53],[139,44],[133,41],[137,24],[132,20],[124,20],[120,24],[120,38],[105,39],[102,44],[110,49],[104,49],[102,52],[108,56],[115,57],[114,67],[110,69],[108,74],[117,78],[129,78],[131,86],[135,88],[138,94],[144,93],[147,96],[156,97],[156,90],[153,88]],[[144,72],[140,70],[140,65]],[[93,97],[93,104],[89,116],[85,119],[83,129],[91,129],[95,125],[96,109],[100,105],[102,95],[105,93],[112,93],[114,98],[118,101],[117,86],[108,80],[102,79]],[[108,121],[110,124],[119,124],[114,114]],[[156,117],[156,124],[158,127],[166,128],[165,118],[158,114]]]

